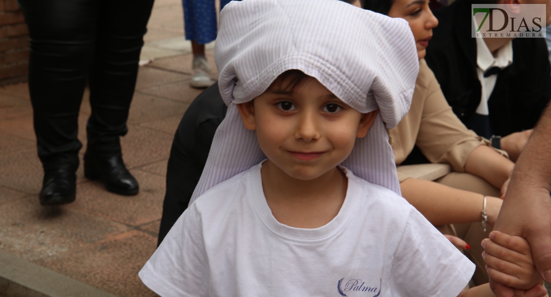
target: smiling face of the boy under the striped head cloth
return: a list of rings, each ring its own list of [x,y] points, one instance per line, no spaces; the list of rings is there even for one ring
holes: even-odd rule
[[[314,77],[294,89],[276,80],[253,101],[239,104],[249,130],[256,130],[264,154],[298,180],[320,177],[348,157],[356,137],[364,137],[377,111],[361,114]]]

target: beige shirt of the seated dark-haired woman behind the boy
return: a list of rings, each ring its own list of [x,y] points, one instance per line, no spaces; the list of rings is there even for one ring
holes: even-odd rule
[[[401,122],[390,130],[396,165],[406,160],[415,144],[429,161],[450,164],[464,172],[469,154],[489,142],[468,130],[453,113],[432,70],[420,61],[412,107]],[[398,173],[399,181],[409,178]]]

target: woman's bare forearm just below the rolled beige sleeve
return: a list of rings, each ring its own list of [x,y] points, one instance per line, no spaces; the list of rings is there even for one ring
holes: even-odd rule
[[[482,177],[500,189],[511,176],[515,164],[486,145],[473,149],[465,163],[465,171]]]

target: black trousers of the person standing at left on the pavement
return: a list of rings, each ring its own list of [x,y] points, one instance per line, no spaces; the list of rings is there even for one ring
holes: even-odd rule
[[[88,150],[120,154],[153,0],[20,0],[30,34],[29,91],[44,169],[78,167],[88,79]]]

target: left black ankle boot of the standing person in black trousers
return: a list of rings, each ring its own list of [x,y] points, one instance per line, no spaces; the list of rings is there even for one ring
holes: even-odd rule
[[[77,176],[66,168],[48,170],[44,173],[39,199],[41,205],[61,205],[75,199]]]

